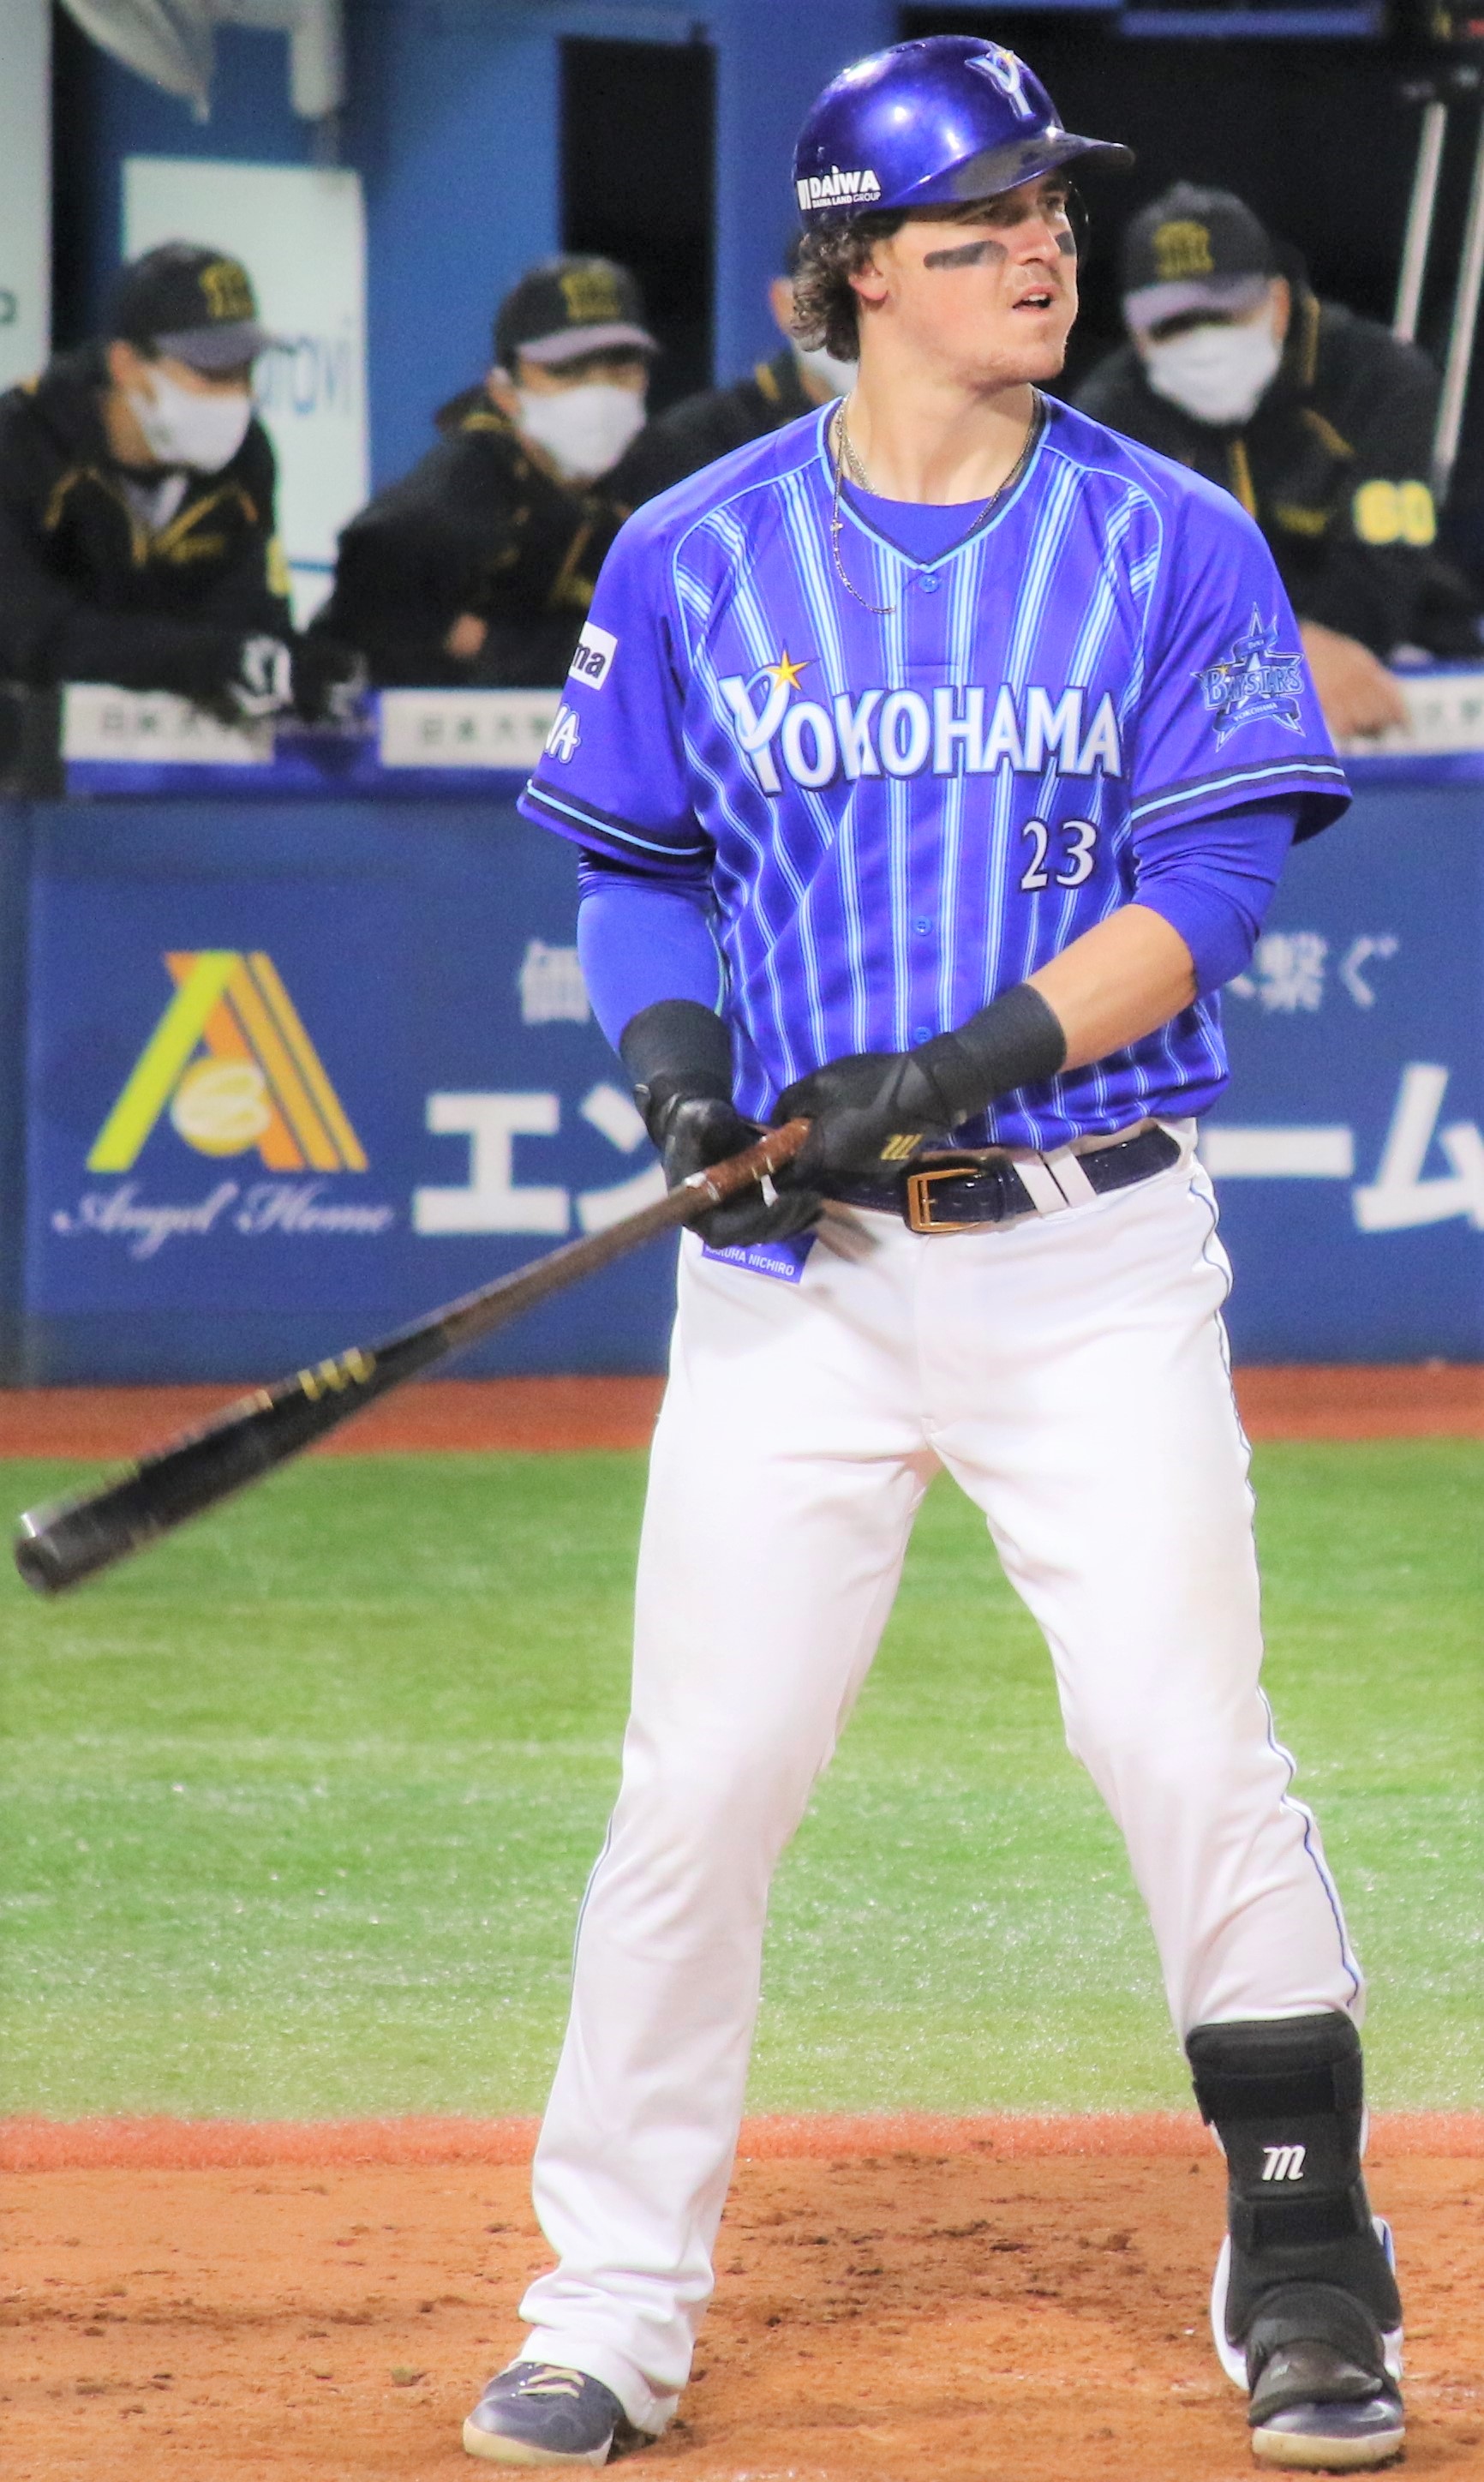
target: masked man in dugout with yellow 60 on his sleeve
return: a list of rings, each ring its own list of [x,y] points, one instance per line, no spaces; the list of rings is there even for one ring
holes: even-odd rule
[[[1479,655],[1472,596],[1434,541],[1432,362],[1315,300],[1231,191],[1179,181],[1127,226],[1119,273],[1129,343],[1077,407],[1256,516],[1330,732],[1405,722],[1395,648]]]

